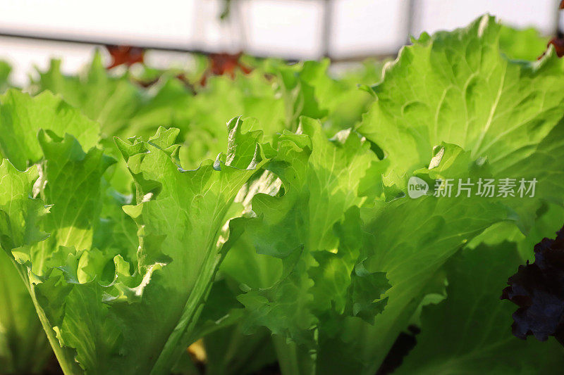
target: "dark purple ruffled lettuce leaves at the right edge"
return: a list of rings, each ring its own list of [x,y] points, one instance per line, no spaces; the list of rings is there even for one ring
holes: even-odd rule
[[[519,266],[508,280],[501,299],[519,308],[513,314],[513,334],[540,341],[554,336],[564,345],[564,228],[556,239],[534,246],[534,263]]]

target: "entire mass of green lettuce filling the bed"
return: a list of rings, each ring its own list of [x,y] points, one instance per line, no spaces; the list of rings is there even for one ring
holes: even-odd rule
[[[203,338],[210,374],[276,355],[284,375],[372,375],[412,325],[398,373],[560,369],[558,344],[513,338],[499,300],[564,220],[563,63],[513,60],[532,60],[525,39],[539,45],[487,15],[422,34],[362,89],[327,61],[266,61],[195,95],[174,79],[149,93],[95,60],[39,81],[78,108],[8,91],[0,246],[63,371],[169,374]],[[123,134],[142,136],[111,143]],[[536,189],[447,194],[482,179]],[[504,293],[528,301],[522,337],[560,338],[532,319],[549,288],[523,276],[558,276],[544,260],[559,241]]]

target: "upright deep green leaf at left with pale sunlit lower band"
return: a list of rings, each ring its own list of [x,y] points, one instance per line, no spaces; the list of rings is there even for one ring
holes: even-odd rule
[[[31,248],[30,258],[32,271],[43,275],[53,267],[49,258],[59,246],[77,250],[92,248],[94,227],[102,209],[100,181],[115,160],[99,148],[85,153],[77,139],[68,134],[61,139],[52,132],[40,130],[38,139],[44,154],[39,180],[44,186],[40,196],[46,204],[52,205],[42,228],[51,236]]]

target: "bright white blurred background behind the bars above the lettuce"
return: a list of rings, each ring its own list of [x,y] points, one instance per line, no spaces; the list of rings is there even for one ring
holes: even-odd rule
[[[266,56],[318,58],[324,0],[233,0],[232,17],[219,20],[221,0],[0,0],[0,32],[18,32],[114,44],[164,45]],[[466,25],[489,12],[518,27],[555,29],[556,0],[416,0],[412,32]],[[333,0],[332,56],[397,51],[407,39],[407,0]],[[94,46],[0,37],[0,58],[23,83],[34,65],[51,56],[73,72],[90,60]],[[166,65],[178,53],[152,53]]]

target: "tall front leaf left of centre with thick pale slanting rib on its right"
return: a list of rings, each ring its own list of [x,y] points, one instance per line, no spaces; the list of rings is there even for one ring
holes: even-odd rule
[[[257,144],[259,132],[243,134],[241,127],[241,120],[233,119],[228,153],[197,170],[176,165],[175,129],[159,129],[149,142],[117,141],[137,186],[137,205],[124,209],[139,228],[139,272],[163,265],[158,281],[147,285],[141,305],[116,305],[118,319],[127,322],[124,348],[147,343],[135,353],[125,352],[123,364],[130,369],[164,373],[190,343],[222,258],[220,235],[230,219],[229,208],[255,168],[266,161]],[[158,358],[152,355],[155,350],[161,353]]]

